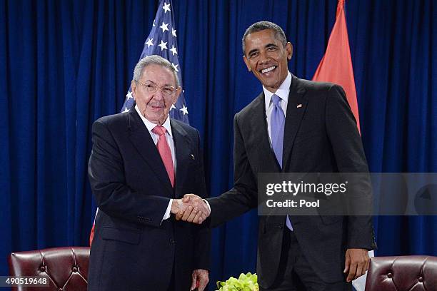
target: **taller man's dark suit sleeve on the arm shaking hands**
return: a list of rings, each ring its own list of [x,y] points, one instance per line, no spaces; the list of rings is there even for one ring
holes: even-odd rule
[[[257,180],[248,161],[238,124],[238,113],[233,119],[233,131],[233,188],[218,197],[208,199],[211,206],[210,226],[213,228],[258,205]]]

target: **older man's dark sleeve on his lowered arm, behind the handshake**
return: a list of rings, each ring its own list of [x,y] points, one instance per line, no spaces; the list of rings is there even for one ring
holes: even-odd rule
[[[197,194],[201,198],[206,199],[208,192],[206,191],[205,172],[204,172],[204,155],[200,146],[199,131],[197,133],[197,156],[200,158],[200,166],[196,173]],[[211,270],[210,251],[211,251],[211,230],[206,223],[194,225],[197,228],[196,245],[194,252],[194,270],[204,269]]]

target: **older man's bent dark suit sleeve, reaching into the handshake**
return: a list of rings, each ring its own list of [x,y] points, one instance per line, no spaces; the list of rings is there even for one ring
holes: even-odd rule
[[[159,227],[170,199],[138,193],[126,185],[123,158],[111,131],[102,121],[94,122],[92,141],[88,174],[99,209],[129,223]]]

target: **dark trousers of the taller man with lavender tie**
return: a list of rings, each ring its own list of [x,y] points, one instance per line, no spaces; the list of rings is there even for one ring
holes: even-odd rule
[[[326,283],[316,275],[313,268],[303,256],[296,235],[285,228],[281,261],[278,275],[273,285],[260,291],[350,291],[352,284],[348,282]]]

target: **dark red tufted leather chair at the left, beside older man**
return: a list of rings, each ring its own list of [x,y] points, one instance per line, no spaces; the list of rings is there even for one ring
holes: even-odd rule
[[[9,256],[11,276],[46,277],[50,287],[31,287],[35,291],[81,291],[88,285],[89,247],[54,247]],[[12,290],[26,290],[15,287]]]

